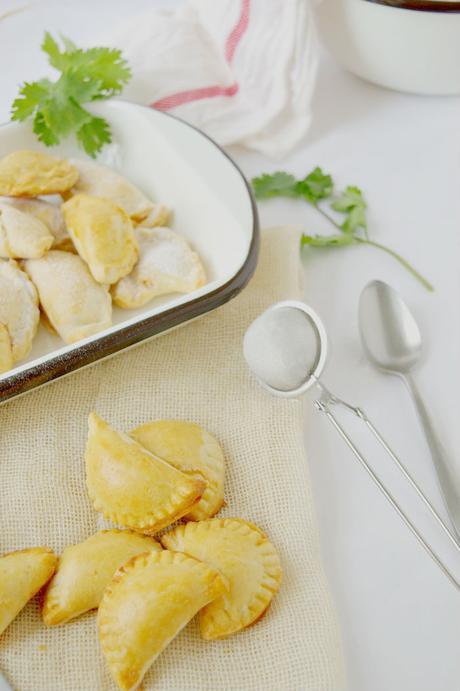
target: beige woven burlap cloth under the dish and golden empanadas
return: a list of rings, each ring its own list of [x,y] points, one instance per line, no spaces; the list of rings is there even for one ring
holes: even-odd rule
[[[255,278],[235,300],[156,339],[0,409],[1,551],[57,552],[101,526],[85,490],[86,419],[93,408],[128,430],[149,419],[193,420],[227,459],[225,516],[263,528],[278,547],[281,591],[266,616],[227,640],[196,621],[147,674],[161,691],[339,691],[341,647],[320,561],[303,447],[303,407],[265,393],[246,369],[242,336],[270,303],[299,297],[299,235],[263,234]],[[0,668],[16,691],[112,691],[95,614],[46,628],[38,598],[2,636]]]

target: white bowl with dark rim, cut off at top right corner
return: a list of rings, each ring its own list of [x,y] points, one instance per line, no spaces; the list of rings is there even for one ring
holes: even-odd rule
[[[460,94],[460,2],[323,0],[324,43],[350,72],[416,94]]]

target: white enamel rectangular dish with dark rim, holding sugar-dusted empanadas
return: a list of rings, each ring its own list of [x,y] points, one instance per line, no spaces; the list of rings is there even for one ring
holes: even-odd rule
[[[171,227],[183,234],[205,265],[208,282],[187,295],[156,298],[142,308],[114,308],[113,326],[64,346],[43,325],[27,360],[0,376],[0,403],[159,335],[234,297],[257,262],[255,203],[244,176],[208,137],[170,115],[124,101],[100,103],[113,141],[98,163],[120,172],[153,201],[173,210]],[[44,149],[29,124],[0,127],[0,157]],[[84,158],[76,145],[51,150]]]

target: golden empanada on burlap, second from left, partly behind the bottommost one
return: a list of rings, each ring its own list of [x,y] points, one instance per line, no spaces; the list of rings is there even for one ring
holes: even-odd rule
[[[45,592],[45,624],[65,624],[99,607],[117,569],[136,554],[150,551],[161,551],[152,537],[115,529],[101,530],[78,545],[66,547]]]

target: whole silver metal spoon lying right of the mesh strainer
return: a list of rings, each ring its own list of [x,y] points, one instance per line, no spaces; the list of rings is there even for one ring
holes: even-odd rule
[[[422,352],[417,323],[393,288],[383,281],[371,281],[361,293],[359,328],[369,360],[384,372],[401,377],[412,395],[447,511],[460,537],[460,473],[455,473],[411,375]]]

